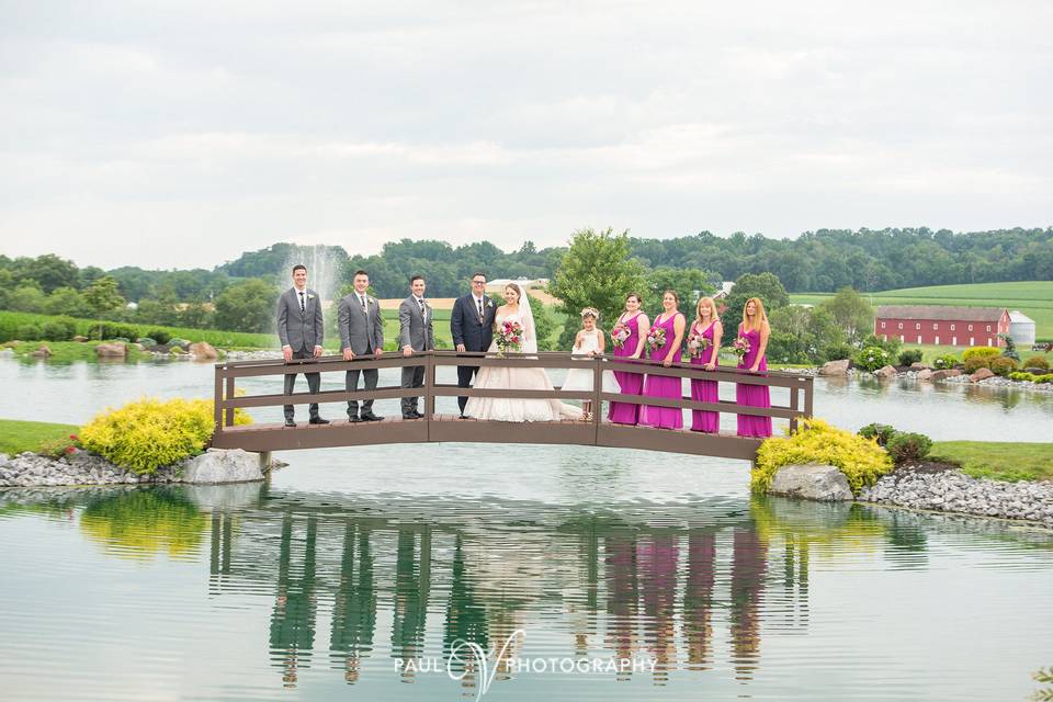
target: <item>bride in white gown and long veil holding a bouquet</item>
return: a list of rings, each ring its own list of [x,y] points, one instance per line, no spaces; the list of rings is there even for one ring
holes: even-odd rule
[[[497,329],[506,321],[516,320],[523,327],[523,353],[537,352],[537,339],[534,330],[534,315],[530,310],[530,298],[516,283],[505,286],[505,304],[497,308],[494,324]],[[497,335],[495,333],[495,337]],[[497,351],[497,339],[490,343],[487,352]],[[475,388],[551,390],[552,381],[544,369],[509,369],[485,365],[475,377]],[[491,421],[559,421],[561,419],[580,419],[581,410],[557,399],[522,399],[502,397],[469,397],[464,414],[476,419]]]

